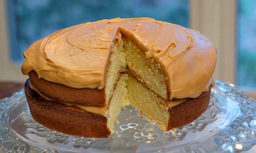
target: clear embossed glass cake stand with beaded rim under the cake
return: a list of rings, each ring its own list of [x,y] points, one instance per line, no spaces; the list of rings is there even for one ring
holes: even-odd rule
[[[127,106],[108,138],[67,135],[34,121],[20,90],[0,100],[0,152],[237,153],[256,144],[256,100],[219,80],[208,109],[186,126],[162,131],[142,116]]]

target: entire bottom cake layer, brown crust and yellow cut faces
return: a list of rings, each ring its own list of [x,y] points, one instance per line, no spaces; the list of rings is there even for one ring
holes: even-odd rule
[[[34,120],[49,129],[83,137],[111,135],[114,132],[116,118],[124,105],[132,104],[146,114],[148,120],[154,119],[161,129],[168,130],[186,125],[198,118],[208,108],[210,101],[208,90],[198,98],[187,99],[168,108],[164,104],[166,100],[152,94],[135,78],[123,74],[114,90],[108,110],[102,116],[46,100],[31,90],[29,84],[28,79],[25,83],[25,94]]]

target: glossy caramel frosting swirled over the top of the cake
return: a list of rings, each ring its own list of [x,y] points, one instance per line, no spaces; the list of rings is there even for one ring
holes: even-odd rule
[[[24,52],[22,73],[34,70],[51,82],[101,90],[120,33],[160,64],[170,99],[196,98],[214,84],[215,45],[198,31],[151,18],[100,20],[56,31]]]

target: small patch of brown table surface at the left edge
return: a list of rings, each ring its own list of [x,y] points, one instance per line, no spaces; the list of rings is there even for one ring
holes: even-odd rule
[[[0,82],[0,99],[10,97],[16,91],[24,88],[22,82]]]

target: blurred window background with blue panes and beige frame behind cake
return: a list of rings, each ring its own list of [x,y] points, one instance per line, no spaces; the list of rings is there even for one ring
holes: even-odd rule
[[[217,46],[215,80],[256,97],[255,0],[0,0],[0,81],[24,82],[22,52],[64,27],[150,17],[199,30]]]

